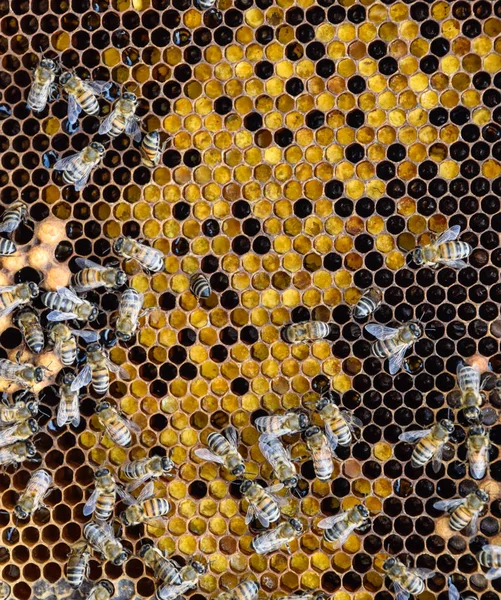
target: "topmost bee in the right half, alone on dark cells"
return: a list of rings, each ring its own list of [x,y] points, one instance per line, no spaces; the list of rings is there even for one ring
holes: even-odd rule
[[[456,238],[461,233],[461,227],[454,225],[433,243],[427,246],[418,246],[412,253],[414,262],[418,265],[425,265],[436,269],[440,264],[448,267],[462,269],[466,267],[463,258],[467,258],[473,251],[470,244],[466,242],[456,242]]]

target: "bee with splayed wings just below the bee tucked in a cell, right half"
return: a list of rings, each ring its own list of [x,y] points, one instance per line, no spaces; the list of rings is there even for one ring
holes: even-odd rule
[[[395,375],[404,362],[405,353],[423,335],[423,328],[417,322],[411,321],[398,329],[369,323],[366,331],[377,338],[372,350],[378,358],[390,359],[390,374]]]

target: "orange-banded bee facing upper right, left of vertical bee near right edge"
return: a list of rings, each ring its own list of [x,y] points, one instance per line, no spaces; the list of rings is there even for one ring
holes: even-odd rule
[[[407,431],[406,433],[401,433],[398,439],[410,444],[419,442],[412,452],[411,467],[424,467],[433,459],[432,468],[436,473],[442,463],[444,447],[453,431],[454,423],[448,419],[442,419],[431,429]]]

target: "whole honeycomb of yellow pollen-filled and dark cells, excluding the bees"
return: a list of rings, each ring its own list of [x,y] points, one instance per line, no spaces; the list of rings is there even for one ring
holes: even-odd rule
[[[501,540],[501,425],[491,429],[480,484],[491,502],[471,539],[433,508],[475,488],[466,423],[456,418],[438,473],[412,469],[398,436],[451,417],[459,358],[501,374],[501,2],[219,0],[202,11],[190,0],[1,0],[0,30],[1,201],[21,199],[30,214],[14,236],[20,255],[2,261],[2,285],[65,285],[76,256],[108,263],[119,235],[166,255],[165,271],[152,276],[126,265],[153,309],[130,343],[113,345],[119,294],[88,294],[102,309],[92,327],[130,374],[113,380],[110,397],[142,429],[132,447],[103,437],[92,389],[80,425],[57,427],[56,369],[41,392],[41,462],[0,475],[0,577],[13,597],[45,597],[64,583],[98,465],[118,471],[172,451],[178,471],[157,484],[174,506],[165,528],[128,528],[132,557],[116,567],[94,555],[91,580],[151,597],[156,582],[135,556],[146,538],[181,561],[211,561],[193,600],[246,576],[261,599],[323,590],[335,600],[390,600],[387,555],[437,571],[422,600],[445,600],[450,575],[463,596],[497,600],[501,580],[488,582],[475,554]],[[70,126],[60,93],[39,115],[27,109],[41,53],[82,78],[114,82],[99,117]],[[75,192],[52,166],[106,139],[99,123],[124,89],[140,98],[144,129],[161,129],[170,146],[149,170],[122,135]],[[467,268],[409,262],[416,244],[452,225],[474,249]],[[199,271],[214,291],[203,301],[189,292]],[[350,317],[373,284],[384,292],[379,322],[426,323],[395,377]],[[329,338],[284,343],[281,328],[308,319],[332,323]],[[1,329],[0,357],[23,350],[9,319]],[[269,482],[253,420],[328,390],[362,420],[359,439],[339,449],[330,483],[315,479],[311,460],[300,463],[284,509],[307,526],[293,553],[253,554],[258,529],[245,525],[238,484],[193,450],[233,424],[248,476]],[[500,407],[492,380],[487,390]],[[300,436],[285,440],[305,454]],[[16,523],[12,509],[39,467],[56,489],[47,508]],[[342,548],[325,544],[318,520],[362,499],[370,526]]]

